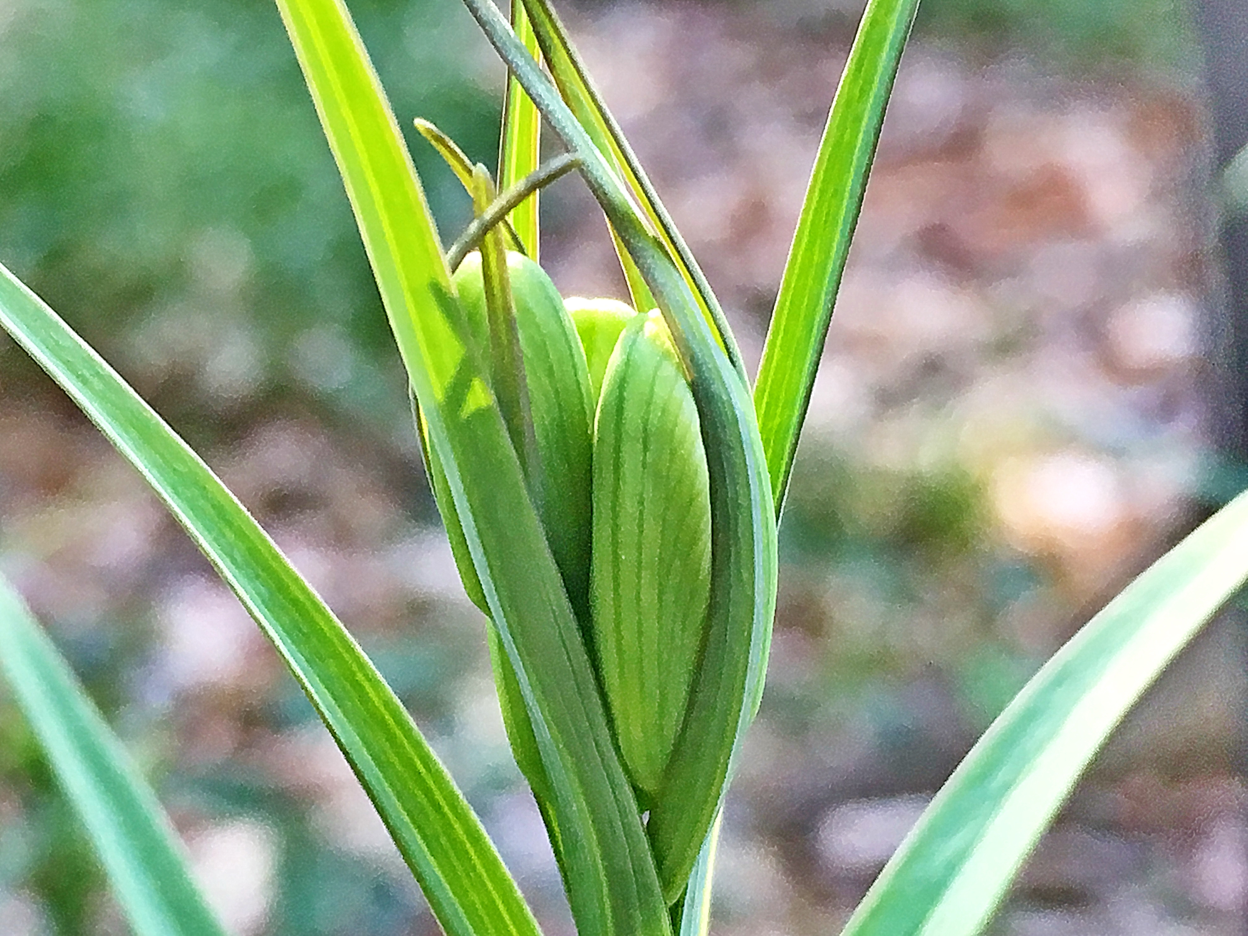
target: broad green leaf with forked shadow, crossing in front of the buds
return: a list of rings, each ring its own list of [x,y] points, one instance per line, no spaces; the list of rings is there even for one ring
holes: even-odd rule
[[[584,932],[663,936],[669,926],[658,875],[580,628],[451,291],[398,125],[341,2],[278,6],[529,710],[573,915]]]

